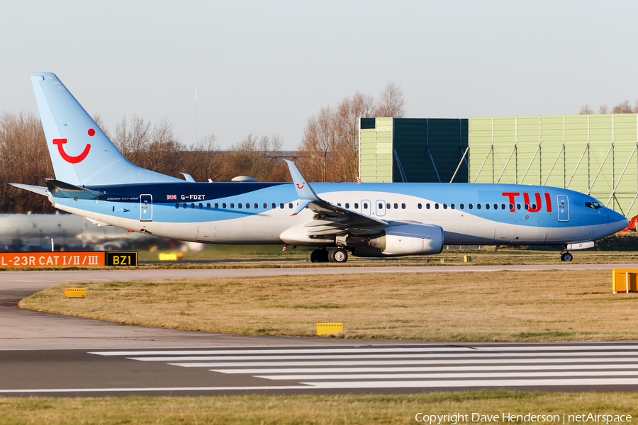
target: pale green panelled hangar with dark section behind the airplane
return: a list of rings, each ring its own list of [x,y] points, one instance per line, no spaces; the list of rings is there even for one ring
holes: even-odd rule
[[[364,182],[517,183],[638,215],[638,114],[361,118]]]

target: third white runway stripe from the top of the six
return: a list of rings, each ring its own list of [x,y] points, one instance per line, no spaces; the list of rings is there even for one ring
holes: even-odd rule
[[[637,357],[616,358],[463,358],[451,360],[361,360],[361,361],[233,361],[218,363],[168,363],[183,368],[255,368],[265,366],[354,366],[354,365],[459,365],[459,364],[512,364],[512,363],[609,363],[637,362]]]

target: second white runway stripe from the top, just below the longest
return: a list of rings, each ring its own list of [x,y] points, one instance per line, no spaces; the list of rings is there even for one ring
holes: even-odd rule
[[[432,353],[432,354],[308,354],[293,356],[161,356],[161,357],[127,357],[138,361],[223,361],[223,360],[321,360],[328,358],[489,358],[489,357],[595,357],[605,356],[638,356],[638,351],[611,351],[605,353]]]

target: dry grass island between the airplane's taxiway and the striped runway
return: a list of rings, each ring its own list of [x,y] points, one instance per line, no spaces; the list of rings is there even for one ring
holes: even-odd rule
[[[434,341],[638,339],[637,294],[612,294],[611,271],[374,273],[64,285],[20,307],[112,322],[230,334]],[[71,285],[66,285],[67,287]]]

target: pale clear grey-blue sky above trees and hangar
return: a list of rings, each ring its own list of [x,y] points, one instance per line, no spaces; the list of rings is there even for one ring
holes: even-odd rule
[[[390,82],[405,118],[598,111],[638,99],[637,18],[636,1],[4,1],[0,113],[38,114],[29,72],[109,131],[167,119],[220,149],[297,149],[320,108]]]

